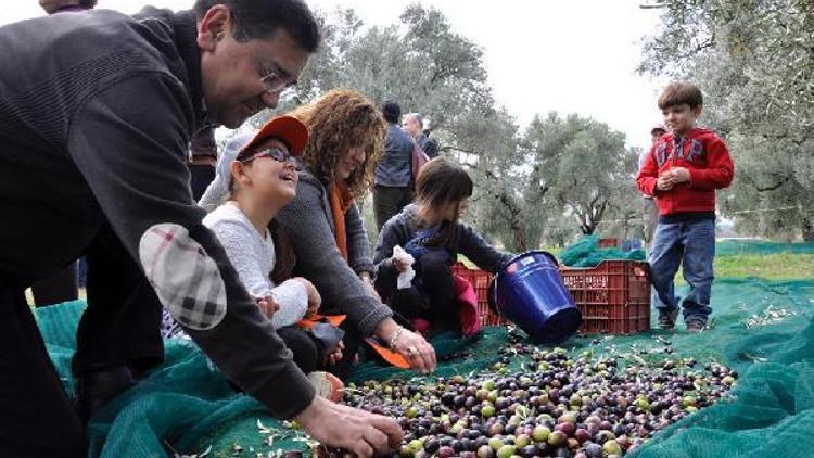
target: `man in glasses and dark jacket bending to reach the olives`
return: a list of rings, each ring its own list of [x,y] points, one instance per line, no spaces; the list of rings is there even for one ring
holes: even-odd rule
[[[190,137],[276,106],[318,42],[302,0],[0,27],[3,455],[85,454],[82,422],[23,294],[82,254],[88,310],[74,371],[85,414],[130,386],[137,361],[161,356],[161,341],[142,333],[157,335],[163,304],[236,384],[315,438],[363,456],[400,441],[393,420],[315,397],[190,193]]]

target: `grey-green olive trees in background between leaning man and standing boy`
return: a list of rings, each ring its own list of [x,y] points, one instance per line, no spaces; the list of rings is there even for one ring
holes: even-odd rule
[[[623,204],[635,193],[635,157],[624,136],[557,114],[521,132],[493,99],[482,49],[440,11],[412,4],[386,27],[365,26],[352,9],[318,16],[323,44],[301,75],[296,98],[278,112],[348,88],[423,114],[442,154],[459,161],[475,182],[465,219],[510,251],[568,243],[608,217],[639,217]],[[370,201],[359,203],[372,242]]]

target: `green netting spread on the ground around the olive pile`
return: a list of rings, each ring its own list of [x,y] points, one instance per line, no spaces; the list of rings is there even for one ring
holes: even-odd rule
[[[679,293],[681,294],[681,293]],[[60,373],[69,384],[74,333],[85,304],[38,309],[38,320]],[[703,362],[711,358],[741,374],[733,399],[688,417],[663,431],[640,451],[644,457],[811,456],[814,447],[814,281],[766,282],[716,280],[712,307],[715,329],[687,334],[651,331],[633,336],[577,336],[563,346],[594,355],[618,354],[636,364],[658,360],[669,339],[674,354]],[[653,317],[654,318],[654,317]],[[750,327],[747,327],[749,325]],[[449,335],[434,341],[437,373],[470,374],[487,368],[506,345],[504,328],[487,328],[480,339],[460,342]],[[190,342],[169,342],[166,362],[138,387],[97,416],[90,425],[90,456],[165,456],[165,443],[179,453],[233,456],[234,445],[256,453],[307,449],[301,434],[274,421],[250,397],[234,393]],[[521,368],[523,357],[512,361]],[[363,364],[353,380],[412,377],[411,372]],[[280,436],[269,434],[257,420]],[[250,453],[250,449],[254,453]]]

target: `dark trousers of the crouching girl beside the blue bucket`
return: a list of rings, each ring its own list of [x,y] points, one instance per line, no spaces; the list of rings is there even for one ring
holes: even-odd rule
[[[424,253],[412,266],[416,278],[412,285],[396,289],[396,279],[382,279],[390,294],[390,306],[405,318],[422,318],[433,329],[458,328],[458,304],[455,283],[449,266],[449,254],[445,250]]]

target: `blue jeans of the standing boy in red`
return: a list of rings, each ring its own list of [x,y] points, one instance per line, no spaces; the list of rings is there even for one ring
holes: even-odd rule
[[[678,308],[673,279],[683,266],[684,279],[689,283],[689,294],[684,297],[684,321],[707,322],[712,313],[712,260],[715,257],[715,220],[663,224],[656,227],[650,247],[650,276],[659,313]],[[653,297],[653,298],[657,298]]]

